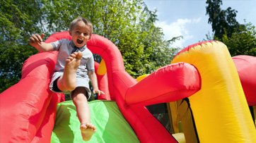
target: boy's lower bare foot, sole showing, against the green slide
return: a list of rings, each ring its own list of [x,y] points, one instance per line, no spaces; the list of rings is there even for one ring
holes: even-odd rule
[[[81,125],[80,129],[84,141],[90,140],[93,134],[96,132],[95,126],[91,123]]]

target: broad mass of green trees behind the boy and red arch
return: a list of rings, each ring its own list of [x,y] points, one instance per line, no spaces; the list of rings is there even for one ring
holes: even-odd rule
[[[0,8],[0,91],[18,82],[23,62],[37,52],[27,44],[30,35],[44,32],[47,38],[68,30],[78,15],[91,20],[93,33],[117,45],[134,77],[170,63],[176,51],[154,25],[156,11],[142,0],[8,0],[0,1]]]

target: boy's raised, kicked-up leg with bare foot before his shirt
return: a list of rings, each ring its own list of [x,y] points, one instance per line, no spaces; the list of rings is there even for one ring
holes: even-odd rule
[[[73,91],[76,88],[76,70],[80,65],[82,53],[74,52],[65,63],[64,73],[57,81],[57,86],[62,91]]]

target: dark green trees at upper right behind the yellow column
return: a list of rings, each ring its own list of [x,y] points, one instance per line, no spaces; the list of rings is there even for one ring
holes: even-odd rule
[[[240,25],[235,19],[237,11],[228,7],[221,10],[221,0],[207,0],[206,14],[209,15],[214,37],[206,35],[207,39],[216,39],[228,46],[231,56],[256,55],[255,26],[251,23]]]

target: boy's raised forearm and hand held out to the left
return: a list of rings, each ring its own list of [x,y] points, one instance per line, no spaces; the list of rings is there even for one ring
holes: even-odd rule
[[[45,36],[45,34],[35,34],[32,35],[29,39],[29,43],[31,46],[34,46],[37,51],[53,51],[54,47],[52,44],[45,43],[42,41],[42,38]]]

